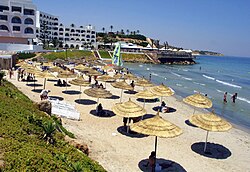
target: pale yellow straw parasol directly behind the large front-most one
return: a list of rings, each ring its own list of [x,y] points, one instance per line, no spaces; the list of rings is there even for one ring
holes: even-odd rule
[[[132,102],[130,98],[129,98],[129,101],[127,102],[116,103],[115,106],[112,107],[112,111],[116,115],[125,117],[125,118],[140,117],[147,113],[145,109],[143,109],[138,104]],[[129,127],[127,128],[127,132],[128,130],[129,130]]]

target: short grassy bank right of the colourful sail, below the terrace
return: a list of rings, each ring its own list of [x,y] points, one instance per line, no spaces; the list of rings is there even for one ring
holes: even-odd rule
[[[122,60],[126,61],[126,62],[141,62],[141,63],[150,63],[151,62],[145,54],[122,53]]]

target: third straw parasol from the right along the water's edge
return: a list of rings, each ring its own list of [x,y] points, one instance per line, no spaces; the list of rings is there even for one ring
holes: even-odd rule
[[[164,84],[151,87],[149,88],[149,91],[157,96],[161,96],[161,99],[162,97],[174,95],[174,91],[170,89],[169,87],[165,86]]]

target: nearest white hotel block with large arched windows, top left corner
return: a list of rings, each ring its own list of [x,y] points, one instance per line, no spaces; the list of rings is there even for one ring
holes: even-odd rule
[[[36,6],[32,0],[0,1],[0,43],[32,44]]]

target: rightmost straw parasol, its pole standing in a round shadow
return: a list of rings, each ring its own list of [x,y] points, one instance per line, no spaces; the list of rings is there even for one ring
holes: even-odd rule
[[[206,152],[207,138],[209,131],[228,131],[232,128],[232,125],[224,120],[223,118],[217,116],[214,112],[208,114],[195,114],[192,115],[189,121],[198,126],[199,128],[207,131],[206,142],[204,146],[204,152]]]

